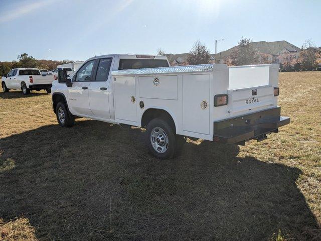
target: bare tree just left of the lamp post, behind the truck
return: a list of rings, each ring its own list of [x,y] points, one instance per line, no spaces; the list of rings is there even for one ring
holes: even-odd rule
[[[187,58],[189,64],[207,64],[210,60],[210,51],[200,40],[196,41]]]

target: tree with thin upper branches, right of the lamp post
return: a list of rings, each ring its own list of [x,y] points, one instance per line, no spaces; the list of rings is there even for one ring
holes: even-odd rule
[[[237,48],[232,52],[233,65],[257,63],[258,52],[253,48],[252,40],[242,37]]]

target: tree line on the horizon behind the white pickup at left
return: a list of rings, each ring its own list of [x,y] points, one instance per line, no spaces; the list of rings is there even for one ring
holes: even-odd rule
[[[0,76],[6,76],[11,69],[15,68],[38,68],[53,70],[57,65],[74,63],[71,60],[45,60],[35,59],[33,56],[29,56],[27,53],[18,55],[18,61],[12,62],[0,62]]]

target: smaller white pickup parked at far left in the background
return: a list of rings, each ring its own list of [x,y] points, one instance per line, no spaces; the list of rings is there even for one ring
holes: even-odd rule
[[[21,89],[24,94],[29,94],[31,90],[45,89],[51,92],[53,75],[41,75],[39,69],[18,68],[12,69],[6,77],[1,78],[1,85],[4,92],[10,89]]]

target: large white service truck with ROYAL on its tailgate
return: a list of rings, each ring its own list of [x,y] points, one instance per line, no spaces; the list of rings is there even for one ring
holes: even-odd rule
[[[244,145],[289,124],[277,106],[278,68],[169,67],[163,56],[98,56],[70,78],[59,71],[52,106],[62,127],[82,116],[146,128],[152,155],[171,158],[186,137]]]

